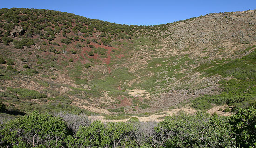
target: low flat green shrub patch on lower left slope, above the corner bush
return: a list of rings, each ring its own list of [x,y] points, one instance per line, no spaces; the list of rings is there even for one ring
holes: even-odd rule
[[[25,88],[8,88],[8,91],[11,91],[15,94],[18,94],[19,99],[41,99],[47,97],[45,94],[41,94],[35,90],[28,90]]]

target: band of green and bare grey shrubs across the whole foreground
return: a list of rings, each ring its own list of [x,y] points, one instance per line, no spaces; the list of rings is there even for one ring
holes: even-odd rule
[[[133,118],[131,118],[133,119]],[[256,109],[231,117],[181,114],[162,122],[90,122],[85,115],[33,112],[0,126],[4,148],[249,148],[256,146]]]

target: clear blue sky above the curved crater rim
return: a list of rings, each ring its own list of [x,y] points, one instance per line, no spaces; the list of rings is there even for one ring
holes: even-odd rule
[[[128,25],[157,25],[208,13],[256,9],[256,0],[2,0],[0,8],[50,9]]]

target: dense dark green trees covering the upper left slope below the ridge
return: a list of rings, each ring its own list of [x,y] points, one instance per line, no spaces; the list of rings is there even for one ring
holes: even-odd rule
[[[17,26],[22,27],[18,35],[21,41],[10,38],[12,30]],[[152,31],[163,27],[138,26],[109,23],[97,19],[89,19],[72,13],[62,13],[59,11],[45,9],[28,8],[2,8],[0,9],[0,37],[5,45],[13,42],[15,48],[23,48],[34,45],[32,37],[39,36],[41,39],[53,41],[56,35],[61,36],[61,42],[70,44],[72,41],[85,41],[84,38],[102,39],[104,45],[112,40],[129,40],[134,35],[144,31]],[[165,28],[167,29],[167,28]],[[73,32],[75,36],[70,35]],[[101,40],[99,40],[101,41]],[[95,41],[97,42],[97,41]]]

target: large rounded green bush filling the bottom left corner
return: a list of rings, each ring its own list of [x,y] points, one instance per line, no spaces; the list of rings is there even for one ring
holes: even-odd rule
[[[60,148],[67,135],[67,127],[60,118],[32,112],[4,124],[0,135],[7,147]]]

